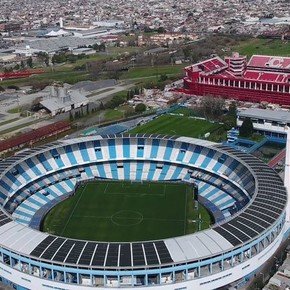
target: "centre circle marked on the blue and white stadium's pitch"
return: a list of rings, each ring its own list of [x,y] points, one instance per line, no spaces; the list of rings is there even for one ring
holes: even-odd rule
[[[117,226],[135,226],[141,224],[143,215],[134,210],[120,210],[111,216],[111,220]]]

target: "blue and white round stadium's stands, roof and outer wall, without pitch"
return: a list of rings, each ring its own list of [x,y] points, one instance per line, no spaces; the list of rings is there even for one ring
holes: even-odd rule
[[[288,233],[287,191],[278,174],[254,156],[205,140],[67,139],[7,158],[0,169],[0,276],[15,289],[215,289],[259,271]],[[134,242],[38,230],[49,209],[80,182],[96,179],[193,184],[215,223]]]

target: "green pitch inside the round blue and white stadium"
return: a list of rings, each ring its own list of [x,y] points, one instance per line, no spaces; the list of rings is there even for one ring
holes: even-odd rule
[[[43,231],[95,241],[143,241],[208,228],[211,216],[194,206],[192,188],[177,183],[93,181],[55,206]]]

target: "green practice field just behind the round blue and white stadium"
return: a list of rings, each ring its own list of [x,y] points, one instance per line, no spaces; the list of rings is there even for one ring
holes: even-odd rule
[[[201,138],[205,133],[213,132],[220,127],[221,125],[219,124],[205,120],[196,120],[182,116],[162,115],[147,124],[134,128],[130,133],[159,133]]]

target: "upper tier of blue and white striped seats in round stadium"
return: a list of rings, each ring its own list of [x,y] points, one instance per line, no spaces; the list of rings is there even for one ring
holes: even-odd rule
[[[126,159],[160,160],[194,166],[225,175],[247,187],[244,181],[249,175],[247,168],[211,148],[167,139],[100,139],[63,144],[15,164],[0,180],[0,203],[3,204],[7,197],[12,197],[26,184],[51,172],[94,162]]]

